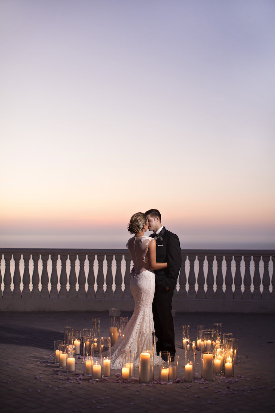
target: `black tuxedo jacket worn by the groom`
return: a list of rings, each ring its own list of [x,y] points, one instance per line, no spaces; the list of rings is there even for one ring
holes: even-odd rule
[[[156,261],[168,262],[168,267],[155,271],[156,287],[174,290],[181,268],[181,247],[179,237],[165,227],[156,239]]]

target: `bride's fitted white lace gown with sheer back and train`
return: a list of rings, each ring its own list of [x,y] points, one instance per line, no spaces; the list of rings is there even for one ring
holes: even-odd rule
[[[130,289],[135,300],[132,317],[120,337],[112,347],[112,368],[120,370],[120,351],[130,349],[136,353],[136,364],[139,361],[139,332],[153,332],[154,321],[152,303],[155,294],[155,273],[149,271],[148,245],[151,237],[132,237],[126,247],[134,263],[135,272],[131,275]]]

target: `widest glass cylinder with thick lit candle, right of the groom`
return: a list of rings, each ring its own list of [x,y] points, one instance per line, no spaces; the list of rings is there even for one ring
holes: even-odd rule
[[[214,380],[214,353],[216,347],[216,331],[202,330],[201,344],[201,377],[203,380]]]

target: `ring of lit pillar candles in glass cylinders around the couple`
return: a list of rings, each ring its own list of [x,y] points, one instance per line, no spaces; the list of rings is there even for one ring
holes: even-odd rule
[[[84,374],[94,380],[111,375],[111,347],[127,325],[128,318],[120,317],[120,310],[110,309],[110,336],[100,337],[99,318],[92,318],[92,328],[73,330],[71,326],[64,327],[64,341],[55,341],[55,362],[68,373],[75,372],[75,358],[83,355]],[[145,344],[144,344],[145,343]],[[135,367],[138,365],[139,380],[149,382],[154,377],[154,333],[142,332],[139,338],[139,359],[128,349],[121,350],[121,377],[124,380],[135,377]],[[214,380],[215,375],[224,373],[227,377],[234,376],[234,366],[237,364],[237,339],[233,333],[221,333],[221,323],[214,323],[212,329],[197,326],[197,341],[190,340],[190,325],[182,326],[182,347],[184,380],[192,382],[195,378],[196,351],[200,351],[201,377],[204,380]],[[170,356],[169,351],[161,351],[159,358],[159,380],[174,381],[179,375],[179,356]]]

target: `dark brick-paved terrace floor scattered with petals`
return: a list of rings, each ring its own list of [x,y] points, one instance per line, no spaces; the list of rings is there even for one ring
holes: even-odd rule
[[[122,313],[131,316],[131,313]],[[274,314],[176,313],[176,352],[180,359],[179,382],[143,384],[122,381],[113,370],[110,379],[93,381],[82,375],[82,359],[68,374],[54,363],[54,340],[63,339],[63,327],[91,327],[100,318],[101,336],[108,335],[108,312],[102,313],[2,313],[1,413],[43,412],[275,412],[275,316]],[[196,354],[195,382],[183,379],[181,326],[211,328],[222,323],[222,332],[238,339],[238,364],[233,379],[200,378],[200,352]]]

